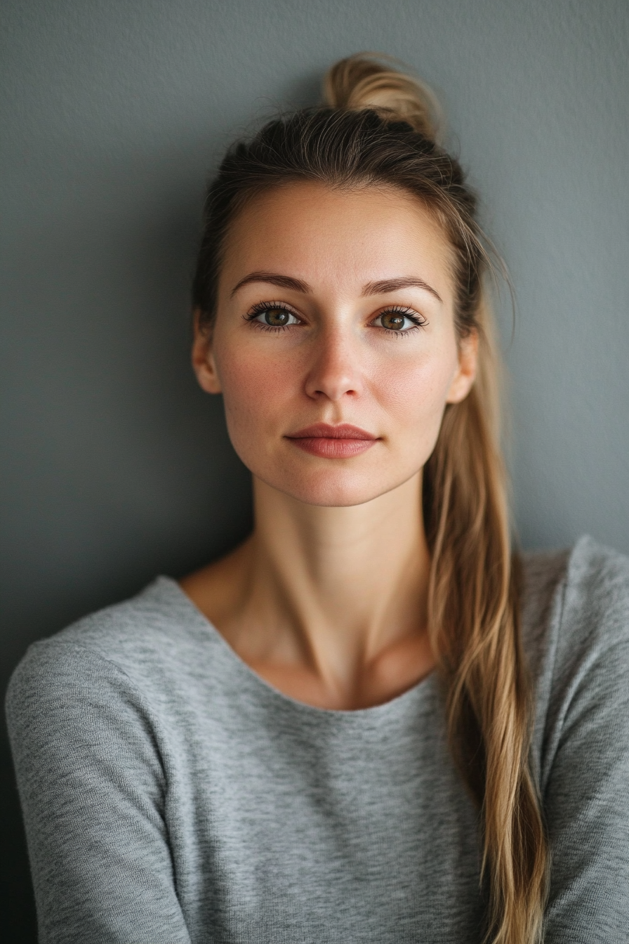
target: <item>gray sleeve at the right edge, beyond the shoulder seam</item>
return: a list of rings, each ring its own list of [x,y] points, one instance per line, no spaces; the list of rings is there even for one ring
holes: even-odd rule
[[[566,590],[543,785],[545,944],[629,940],[629,566],[616,561]]]

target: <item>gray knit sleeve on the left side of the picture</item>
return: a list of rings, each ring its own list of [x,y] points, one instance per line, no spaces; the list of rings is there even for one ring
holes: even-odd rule
[[[7,709],[41,944],[190,944],[151,713],[128,677],[89,649],[38,643]]]

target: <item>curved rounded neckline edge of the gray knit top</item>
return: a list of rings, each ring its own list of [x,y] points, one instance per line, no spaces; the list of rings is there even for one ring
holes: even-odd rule
[[[223,634],[219,632],[214,623],[207,618],[207,615],[199,609],[194,600],[188,596],[174,577],[169,577],[167,574],[160,574],[146,589],[157,589],[159,586],[166,586],[173,592],[174,596],[177,598],[177,602],[185,606],[189,614],[194,616],[196,623],[206,632],[210,633],[212,639],[218,643],[226,658],[229,659],[230,665],[240,673],[240,676],[245,682],[248,682],[250,685],[255,685],[257,690],[264,694],[265,697],[281,701],[286,706],[291,706],[311,716],[317,715],[320,717],[336,717],[343,719],[355,718],[356,720],[368,717],[375,719],[377,716],[383,716],[391,712],[402,710],[406,706],[406,702],[412,704],[418,699],[428,698],[428,696],[434,692],[438,682],[437,670],[433,669],[428,675],[425,675],[419,682],[407,688],[406,691],[402,692],[400,695],[395,695],[392,699],[383,701],[377,705],[370,705],[367,708],[322,708],[319,705],[308,704],[307,701],[292,698],[292,696],[276,688],[259,675],[255,669],[249,666],[248,663],[241,658],[236,649],[233,649],[233,647],[229,645]]]

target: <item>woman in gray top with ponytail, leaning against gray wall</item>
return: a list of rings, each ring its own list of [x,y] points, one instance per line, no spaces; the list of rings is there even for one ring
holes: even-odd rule
[[[512,556],[473,195],[415,79],[325,90],[207,198],[253,534],[13,677],[41,940],[626,940],[627,561]]]

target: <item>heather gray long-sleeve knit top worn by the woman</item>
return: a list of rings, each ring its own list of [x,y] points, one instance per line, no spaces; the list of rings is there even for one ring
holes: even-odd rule
[[[629,561],[526,561],[547,944],[629,941]],[[36,643],[8,721],[41,942],[478,944],[477,811],[429,676],[324,711],[244,665],[178,585]]]

